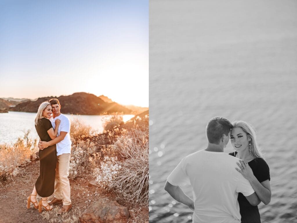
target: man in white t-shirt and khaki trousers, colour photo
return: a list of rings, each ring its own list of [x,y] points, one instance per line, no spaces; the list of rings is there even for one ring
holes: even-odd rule
[[[69,161],[71,154],[71,140],[70,140],[70,121],[60,113],[61,105],[58,99],[50,99],[49,103],[52,105],[53,117],[50,121],[53,128],[56,127],[55,120],[60,119],[61,123],[58,128],[57,137],[49,142],[40,142],[38,147],[44,149],[50,145],[56,144],[57,150],[57,166],[54,199],[48,202],[49,205],[55,205],[63,202],[63,207],[57,213],[61,215],[68,212],[72,208],[70,200],[70,184],[69,184]]]

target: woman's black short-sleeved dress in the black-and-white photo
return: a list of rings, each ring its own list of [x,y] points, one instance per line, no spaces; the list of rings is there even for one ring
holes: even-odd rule
[[[236,156],[237,152],[235,152]],[[229,153],[234,156],[234,153]],[[255,158],[248,162],[255,177],[261,183],[270,180],[269,167],[262,158]],[[252,206],[243,194],[238,193],[238,203],[240,208],[241,223],[261,223],[258,206]]]

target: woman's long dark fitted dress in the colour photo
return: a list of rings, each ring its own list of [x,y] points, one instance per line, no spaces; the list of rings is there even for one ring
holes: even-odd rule
[[[42,118],[38,120],[38,124],[35,125],[38,136],[41,141],[50,141],[48,130],[53,128],[50,120]],[[56,144],[49,146],[43,150],[39,150],[40,159],[40,175],[36,180],[35,188],[37,194],[40,197],[49,197],[53,194],[55,189],[55,176],[56,176],[56,164],[57,164],[57,151]]]

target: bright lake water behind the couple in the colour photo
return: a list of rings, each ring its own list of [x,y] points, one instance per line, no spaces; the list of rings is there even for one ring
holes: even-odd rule
[[[69,115],[65,114],[69,120],[78,119],[86,125],[91,126],[96,134],[102,133],[102,119],[109,115]],[[36,113],[29,112],[8,112],[0,113],[0,143],[13,143],[18,137],[24,136],[23,131],[30,129],[31,138],[39,138],[34,126]],[[123,121],[126,122],[134,115],[123,115]]]

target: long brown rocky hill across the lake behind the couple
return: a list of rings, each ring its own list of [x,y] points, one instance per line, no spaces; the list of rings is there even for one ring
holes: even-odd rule
[[[65,114],[100,115],[111,114],[115,112],[122,112],[123,114],[132,113],[130,109],[127,109],[116,102],[107,103],[96,95],[85,92],[79,92],[60,97],[50,96],[38,98],[36,101],[22,102],[15,107],[10,108],[10,111],[37,112],[40,103],[48,101],[51,98],[59,99],[61,104],[61,112]]]

